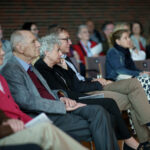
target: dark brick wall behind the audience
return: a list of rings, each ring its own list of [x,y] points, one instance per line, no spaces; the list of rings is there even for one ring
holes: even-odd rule
[[[40,36],[50,24],[67,27],[73,41],[76,29],[92,18],[97,28],[104,21],[139,20],[145,30],[150,26],[150,0],[0,0],[0,24],[6,38],[25,21],[38,23]]]

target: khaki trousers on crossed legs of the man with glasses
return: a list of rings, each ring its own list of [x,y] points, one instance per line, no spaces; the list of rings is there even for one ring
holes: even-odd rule
[[[104,93],[104,97],[116,101],[121,111],[130,109],[139,141],[149,140],[150,130],[145,124],[150,122],[150,104],[140,82],[136,78],[120,80],[104,86],[103,89],[89,94]]]

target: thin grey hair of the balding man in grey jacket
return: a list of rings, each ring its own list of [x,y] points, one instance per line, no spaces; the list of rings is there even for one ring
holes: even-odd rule
[[[23,36],[23,34],[21,34],[20,30],[17,30],[12,33],[12,35],[10,37],[10,43],[11,43],[13,50],[15,49],[15,47],[18,43],[20,43],[20,42],[23,43],[23,41],[24,41],[24,36]]]

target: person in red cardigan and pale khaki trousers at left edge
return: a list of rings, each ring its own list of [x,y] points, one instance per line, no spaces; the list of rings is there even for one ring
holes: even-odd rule
[[[3,57],[4,51],[2,49],[2,43],[0,42],[0,65],[3,63]],[[0,149],[7,149],[7,145],[11,144],[27,143],[38,144],[43,150],[84,149],[50,123],[39,123],[39,125],[25,129],[24,124],[32,118],[20,110],[11,96],[6,80],[1,75],[0,97]],[[52,142],[54,139],[57,142]]]

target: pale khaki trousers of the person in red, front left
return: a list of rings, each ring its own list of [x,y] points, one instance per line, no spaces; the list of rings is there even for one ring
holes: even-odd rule
[[[34,127],[0,139],[0,146],[33,143],[43,150],[87,150],[50,123]]]

